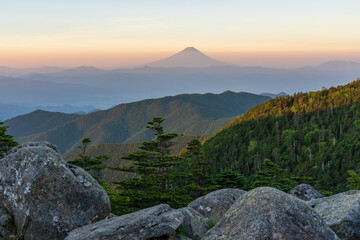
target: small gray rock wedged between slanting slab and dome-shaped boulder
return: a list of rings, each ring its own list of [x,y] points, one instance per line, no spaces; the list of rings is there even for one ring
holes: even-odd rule
[[[181,224],[181,230],[186,236],[192,239],[200,239],[209,230],[209,219],[204,217],[193,208],[185,207],[179,209],[184,220]]]

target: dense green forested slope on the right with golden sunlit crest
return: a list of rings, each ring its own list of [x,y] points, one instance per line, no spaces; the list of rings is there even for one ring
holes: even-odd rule
[[[253,179],[270,159],[317,188],[345,190],[360,171],[360,79],[318,92],[282,96],[238,117],[204,143],[211,173],[232,168]]]

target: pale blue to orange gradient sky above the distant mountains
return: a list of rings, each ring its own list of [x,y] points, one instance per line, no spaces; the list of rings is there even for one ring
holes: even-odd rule
[[[241,65],[360,62],[358,0],[0,3],[0,66],[129,66],[188,46]]]

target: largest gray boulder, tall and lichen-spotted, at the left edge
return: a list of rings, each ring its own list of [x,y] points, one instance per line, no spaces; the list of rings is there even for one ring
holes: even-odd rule
[[[0,160],[0,202],[25,239],[64,239],[110,213],[106,192],[47,142],[18,146]]]

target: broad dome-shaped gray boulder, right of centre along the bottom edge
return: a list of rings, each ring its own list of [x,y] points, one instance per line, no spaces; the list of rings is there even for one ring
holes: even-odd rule
[[[277,189],[256,188],[241,197],[203,240],[339,239],[304,201]]]

